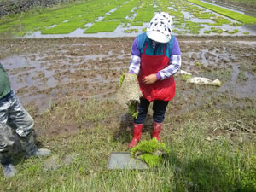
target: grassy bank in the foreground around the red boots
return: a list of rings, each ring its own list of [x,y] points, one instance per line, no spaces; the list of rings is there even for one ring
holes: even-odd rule
[[[196,98],[198,99],[198,97]],[[214,97],[213,101],[236,101]],[[212,101],[211,100],[211,101]],[[183,102],[181,100],[180,102]],[[190,101],[191,102],[191,101]],[[202,102],[205,102],[202,100]],[[113,100],[63,100],[35,118],[36,128],[70,125],[76,134],[38,137],[52,150],[58,163],[66,155],[73,162],[56,170],[44,170],[49,158],[15,158],[18,174],[5,180],[1,191],[253,191],[255,186],[255,135],[243,130],[255,123],[255,108],[216,109],[201,107],[176,114],[175,103],[167,108],[161,132],[170,153],[164,164],[148,171],[107,169],[112,151],[129,151],[129,132],[122,130],[123,111]],[[31,109],[29,109],[31,111]],[[241,119],[241,120],[238,120]],[[130,119],[132,120],[132,119]],[[152,129],[145,125],[143,141]],[[229,129],[235,137],[230,137]],[[135,184],[136,183],[136,184]],[[131,188],[132,186],[132,188]]]

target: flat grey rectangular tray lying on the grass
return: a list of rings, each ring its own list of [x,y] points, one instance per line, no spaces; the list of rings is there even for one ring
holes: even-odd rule
[[[148,169],[148,165],[131,158],[129,152],[112,152],[108,160],[108,169]]]

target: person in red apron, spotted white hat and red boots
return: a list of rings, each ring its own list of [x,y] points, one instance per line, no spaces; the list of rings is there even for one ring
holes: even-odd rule
[[[147,32],[140,34],[131,48],[129,73],[137,74],[143,96],[129,148],[135,147],[140,140],[150,102],[153,102],[154,111],[153,137],[160,143],[166,107],[175,96],[173,75],[180,67],[180,49],[177,38],[172,35],[172,17],[165,12],[158,13],[151,20]]]

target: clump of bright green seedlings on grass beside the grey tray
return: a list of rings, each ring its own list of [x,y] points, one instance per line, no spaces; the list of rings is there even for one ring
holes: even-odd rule
[[[158,143],[156,138],[138,143],[131,149],[131,157],[143,160],[150,168],[160,166],[164,162],[163,154],[168,154],[165,143]]]

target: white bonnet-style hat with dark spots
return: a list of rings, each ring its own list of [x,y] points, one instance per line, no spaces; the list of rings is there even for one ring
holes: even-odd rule
[[[171,33],[172,17],[165,12],[160,12],[154,15],[146,32],[148,38],[163,44],[166,44],[171,40]]]

